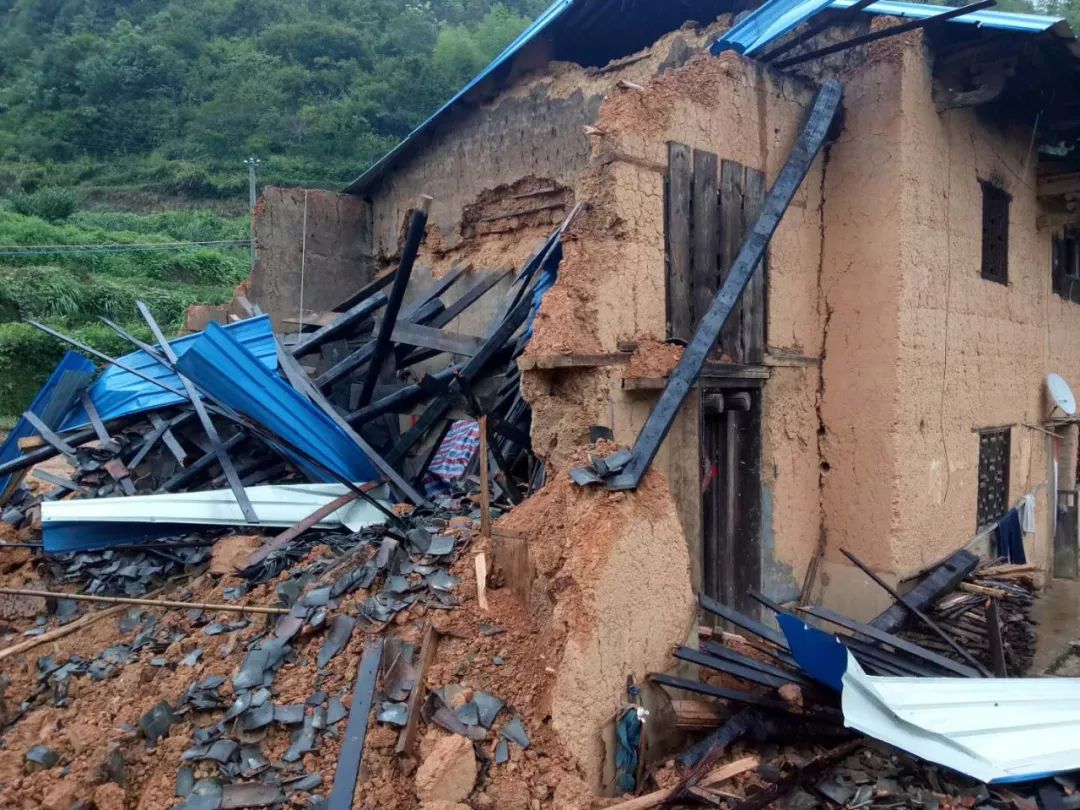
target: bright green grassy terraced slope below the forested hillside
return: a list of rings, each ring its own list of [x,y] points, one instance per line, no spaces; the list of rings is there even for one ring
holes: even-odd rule
[[[64,221],[0,210],[0,251],[25,245],[139,245],[245,239],[246,217],[207,211],[138,215],[76,212]],[[66,351],[25,321],[48,323],[113,356],[131,346],[102,316],[140,338],[149,330],[136,309],[146,301],[170,334],[188,307],[220,305],[248,273],[246,248],[0,257],[0,414],[22,413]],[[0,427],[13,423],[0,417]]]

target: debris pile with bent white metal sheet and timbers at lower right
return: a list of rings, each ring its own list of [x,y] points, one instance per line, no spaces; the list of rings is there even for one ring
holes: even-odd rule
[[[907,615],[896,633],[877,626],[892,609],[863,623],[752,593],[778,631],[699,595],[708,621],[674,650],[699,678],[650,680],[671,690],[666,725],[710,733],[637,785],[657,789],[617,807],[1067,806],[1070,783],[1050,777],[1080,767],[1078,681],[1002,677],[1030,665],[1032,571],[958,552],[895,594]]]

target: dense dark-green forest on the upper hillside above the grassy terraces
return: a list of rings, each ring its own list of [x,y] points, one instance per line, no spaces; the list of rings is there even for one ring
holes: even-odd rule
[[[544,0],[0,0],[0,193],[340,186]]]

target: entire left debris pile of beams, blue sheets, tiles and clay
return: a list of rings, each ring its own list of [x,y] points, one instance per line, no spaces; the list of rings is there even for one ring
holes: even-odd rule
[[[0,449],[3,584],[25,585],[0,589],[25,600],[0,626],[12,801],[573,807],[537,726],[556,639],[491,527],[542,483],[515,359],[569,219],[483,337],[445,327],[508,272],[446,305],[456,269],[404,306],[424,220],[298,336],[252,308],[167,341],[144,307],[156,342],[124,333],[112,359],[41,327],[106,366],[66,355]],[[457,362],[421,370],[438,354]]]

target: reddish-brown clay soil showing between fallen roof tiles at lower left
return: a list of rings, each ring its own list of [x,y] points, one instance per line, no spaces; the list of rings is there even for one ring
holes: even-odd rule
[[[505,588],[490,588],[490,610],[480,610],[475,602],[473,555],[483,550],[490,561],[492,556],[488,543],[486,540],[477,541],[455,565],[454,572],[462,580],[458,589],[463,602],[460,607],[446,611],[416,605],[399,615],[386,633],[402,636],[419,646],[426,622],[434,622],[444,635],[430,671],[428,687],[438,688],[455,683],[489,691],[504,700],[509,710],[500,715],[497,728],[512,714],[518,714],[526,726],[531,739],[529,748],[523,751],[511,746],[510,762],[492,765],[488,781],[478,784],[469,799],[471,807],[509,809],[521,806],[524,810],[535,806],[530,802],[539,801],[544,810],[556,807],[584,810],[589,801],[582,798],[573,764],[559,751],[554,734],[545,725],[543,698],[545,685],[551,678],[550,667],[557,665],[558,634],[538,627],[529,612],[516,603]],[[316,548],[307,562],[325,553],[328,553],[325,549]],[[38,577],[33,564],[25,555],[19,556],[23,563],[9,568],[3,577],[5,583],[22,583]],[[496,571],[492,577],[496,584],[497,575]],[[237,582],[239,579],[231,575],[203,573],[185,588],[190,591],[192,600],[224,602],[221,592]],[[241,602],[275,604],[275,585],[276,582],[271,581],[254,588]],[[356,605],[365,598],[364,592],[351,594],[342,598],[339,609],[354,612]],[[158,667],[149,663],[154,653],[145,651],[138,661],[118,666],[114,675],[106,680],[71,678],[64,707],[54,707],[45,702],[28,711],[3,732],[0,740],[0,791],[4,798],[0,806],[68,810],[83,800],[97,802],[102,810],[113,807],[117,810],[158,810],[178,801],[174,796],[176,773],[181,765],[180,755],[192,745],[193,728],[195,725],[213,725],[222,712],[185,715],[154,747],[148,747],[132,727],[158,702],[166,700],[175,704],[189,685],[211,675],[227,678],[219,691],[226,698],[231,697],[231,676],[241,665],[247,643],[264,632],[266,620],[256,619],[251,626],[235,633],[207,637],[190,624],[186,611],[151,608],[149,612],[160,617],[163,625],[188,634],[185,640],[172,645],[161,654],[176,662],[195,647],[201,647],[203,657],[199,663],[193,667]],[[83,631],[3,660],[2,673],[9,683],[2,691],[0,715],[6,711],[10,716],[23,700],[31,696],[39,657],[53,656],[58,662],[67,661],[71,656],[93,659],[107,647],[130,643],[138,630],[120,632],[120,616],[102,619]],[[505,632],[484,636],[476,630],[480,623],[497,624]],[[8,622],[8,625],[14,632],[0,638],[0,649],[26,640],[22,631],[32,626],[33,620],[17,619]],[[50,622],[49,629],[53,626],[54,623]],[[323,689],[330,696],[342,697],[349,705],[364,640],[364,633],[357,630],[346,650],[327,665],[328,674],[319,677],[313,660],[323,635],[311,632],[300,634],[294,639],[296,661],[283,665],[274,678],[274,702],[302,702],[316,689]],[[495,664],[492,659],[496,657],[505,663]],[[421,723],[418,739],[423,739],[427,731]],[[419,806],[414,792],[414,775],[420,751],[395,757],[395,741],[396,729],[373,723],[354,808],[411,810]],[[482,743],[489,755],[494,755],[495,742],[492,735],[489,742]],[[59,765],[49,770],[30,771],[24,762],[24,753],[37,744],[54,748],[60,756]],[[271,727],[262,743],[264,754],[271,759],[280,757],[288,744],[287,729]],[[339,744],[338,740],[324,735],[318,751],[303,757],[307,771],[322,774],[323,786],[320,791],[324,794],[333,783]],[[112,748],[119,750],[125,761],[126,780],[123,786],[109,782],[103,770],[105,757]],[[213,764],[202,762],[195,769],[195,777],[210,777],[214,771]],[[525,804],[517,801],[517,794],[522,794],[518,798]],[[556,794],[563,798],[556,799]]]

